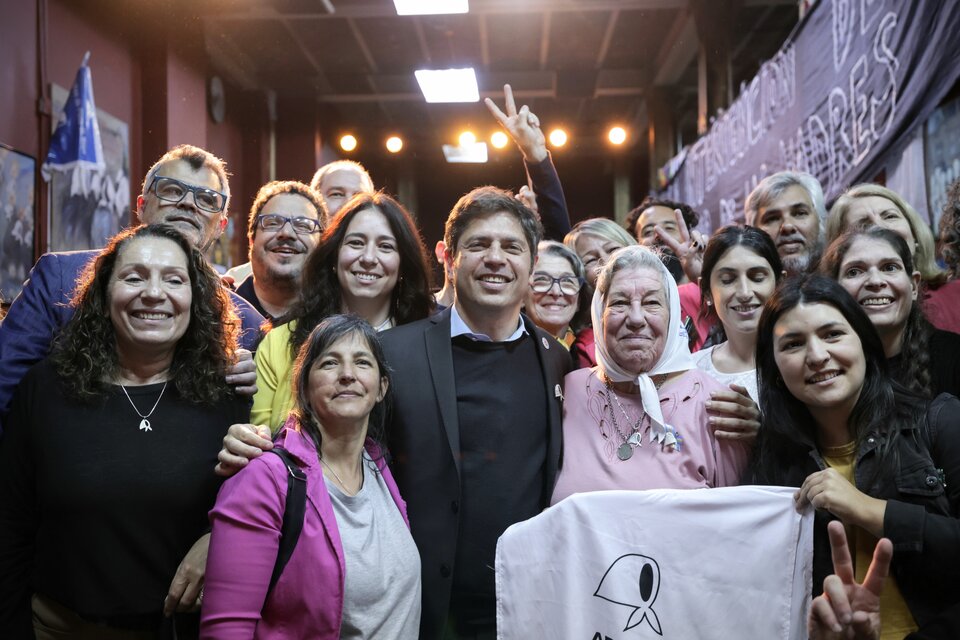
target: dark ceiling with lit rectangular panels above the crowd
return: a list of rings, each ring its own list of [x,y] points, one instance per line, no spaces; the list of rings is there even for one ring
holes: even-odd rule
[[[734,93],[797,23],[796,0],[696,1],[728,9],[717,28],[728,29]],[[463,66],[476,69],[481,98],[502,104],[510,83],[545,128],[567,128],[571,155],[599,153],[620,123],[632,133],[625,153],[645,156],[644,94],[654,86],[675,102],[677,147],[696,136],[699,40],[687,0],[470,0],[468,14],[419,17],[397,16],[391,0],[215,4],[203,26],[217,73],[243,89],[315,99],[361,139],[398,133],[439,156],[464,126],[486,137],[495,126],[481,105],[427,104],[413,75]]]

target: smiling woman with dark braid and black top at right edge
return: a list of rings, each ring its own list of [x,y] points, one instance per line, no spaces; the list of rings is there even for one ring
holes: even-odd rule
[[[883,341],[895,380],[920,395],[960,395],[960,335],[930,326],[906,241],[880,227],[837,238],[820,270],[847,290]]]

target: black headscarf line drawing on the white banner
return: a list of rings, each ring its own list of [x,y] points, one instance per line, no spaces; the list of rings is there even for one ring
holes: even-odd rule
[[[628,553],[613,561],[593,595],[633,609],[626,626],[623,627],[624,631],[633,629],[646,620],[650,628],[658,636],[662,636],[660,618],[653,610],[653,603],[659,593],[660,565],[657,561],[650,556]]]

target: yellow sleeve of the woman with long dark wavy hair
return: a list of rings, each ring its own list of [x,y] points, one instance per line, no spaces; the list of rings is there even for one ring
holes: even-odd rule
[[[290,351],[290,333],[295,322],[280,325],[267,333],[257,347],[257,393],[253,396],[250,421],[265,424],[276,433],[293,409],[293,353]]]

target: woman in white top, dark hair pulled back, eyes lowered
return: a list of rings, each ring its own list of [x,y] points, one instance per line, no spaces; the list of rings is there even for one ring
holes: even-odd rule
[[[754,353],[763,303],[783,274],[780,255],[765,232],[729,225],[707,243],[700,271],[700,317],[713,325],[709,342],[693,354],[697,366],[757,401]]]

